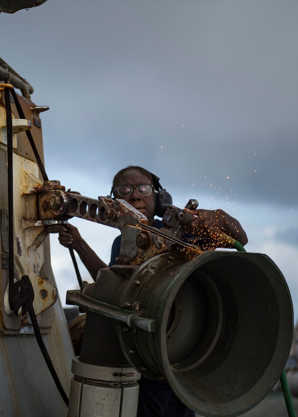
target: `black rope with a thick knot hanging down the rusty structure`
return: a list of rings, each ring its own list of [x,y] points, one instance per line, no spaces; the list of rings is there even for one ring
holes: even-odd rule
[[[34,290],[28,275],[23,275],[20,281],[14,283],[14,232],[13,232],[13,121],[10,106],[10,89],[5,87],[5,111],[6,111],[6,126],[7,126],[7,160],[8,160],[8,301],[10,309],[12,309],[18,316],[18,311],[22,307],[21,315],[29,311],[36,341],[40,347],[41,353],[45,358],[45,363],[53,377],[53,380],[61,394],[61,397],[68,407],[68,397],[59,381],[58,375],[53,367],[51,358],[45,347],[43,339],[40,334],[38,322],[33,309]],[[23,111],[22,111],[23,112]],[[21,118],[25,118],[24,113],[19,113]],[[32,136],[31,136],[32,137]],[[31,143],[31,142],[30,142]],[[32,146],[32,144],[31,144]],[[36,148],[35,148],[36,149]],[[34,151],[34,150],[33,150]],[[45,180],[46,181],[46,180]]]

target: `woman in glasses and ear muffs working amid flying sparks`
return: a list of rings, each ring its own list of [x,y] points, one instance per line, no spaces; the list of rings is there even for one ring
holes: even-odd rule
[[[154,183],[152,174],[139,166],[128,166],[119,171],[114,177],[113,188],[115,198],[122,198],[139,210],[148,219],[149,226],[162,227],[160,220],[154,219]],[[242,245],[247,243],[245,231],[239,222],[222,210],[189,210],[195,219],[187,226],[186,231],[191,236],[212,235],[217,230],[223,230]],[[96,279],[97,272],[107,265],[81,238],[76,227],[68,225],[59,234],[61,245],[73,244],[83,264]],[[115,264],[119,256],[121,235],[114,240],[111,250],[110,265]],[[194,417],[194,412],[177,399],[167,382],[154,381],[141,377],[139,381],[138,417]]]

